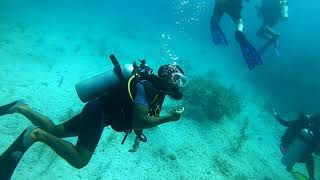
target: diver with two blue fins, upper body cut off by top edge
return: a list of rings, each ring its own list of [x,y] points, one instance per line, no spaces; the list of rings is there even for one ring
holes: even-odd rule
[[[249,2],[249,0],[246,1]],[[255,66],[263,64],[263,62],[256,48],[251,45],[243,33],[241,10],[242,0],[216,0],[211,17],[211,35],[215,45],[228,46],[228,40],[219,25],[223,14],[227,13],[236,25],[236,40],[240,44],[241,52],[248,68],[252,70]]]

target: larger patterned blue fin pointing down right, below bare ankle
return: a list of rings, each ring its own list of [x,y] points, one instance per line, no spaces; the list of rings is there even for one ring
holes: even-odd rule
[[[256,66],[262,65],[263,62],[260,53],[251,45],[251,43],[246,39],[245,35],[241,31],[236,31],[235,36],[240,44],[241,52],[248,65],[248,68],[252,70]]]

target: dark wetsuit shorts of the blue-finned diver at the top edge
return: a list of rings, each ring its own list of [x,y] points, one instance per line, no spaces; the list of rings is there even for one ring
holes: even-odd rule
[[[227,13],[233,21],[241,19],[242,0],[216,0],[213,16],[217,23],[224,13]]]

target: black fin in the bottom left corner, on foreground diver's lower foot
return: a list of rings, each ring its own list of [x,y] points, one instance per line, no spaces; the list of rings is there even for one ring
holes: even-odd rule
[[[26,141],[26,136],[35,129],[35,126],[25,129],[14,143],[0,156],[0,179],[10,180],[14,170],[19,164],[24,153],[31,146]]]

